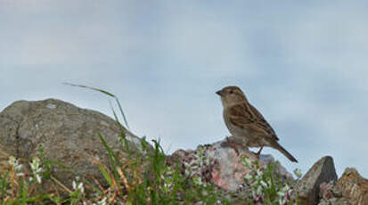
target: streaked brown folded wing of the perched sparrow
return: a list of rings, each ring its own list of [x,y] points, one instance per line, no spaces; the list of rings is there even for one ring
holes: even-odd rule
[[[237,104],[230,108],[229,119],[233,125],[237,127],[244,128],[247,126],[255,131],[264,132],[265,135],[270,135],[276,140],[279,140],[274,133],[274,129],[267,123],[262,114],[249,103]]]

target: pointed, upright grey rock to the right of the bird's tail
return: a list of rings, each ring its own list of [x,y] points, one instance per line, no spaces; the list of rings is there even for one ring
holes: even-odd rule
[[[320,184],[335,182],[337,178],[333,159],[330,156],[323,157],[315,162],[315,165],[307,171],[307,174],[303,176],[296,187],[301,204],[318,204]]]

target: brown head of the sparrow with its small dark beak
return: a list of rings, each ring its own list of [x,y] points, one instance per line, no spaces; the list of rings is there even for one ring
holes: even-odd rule
[[[221,102],[224,107],[232,106],[241,102],[247,102],[245,94],[241,91],[238,86],[225,86],[221,90],[217,91],[216,94],[220,95]]]

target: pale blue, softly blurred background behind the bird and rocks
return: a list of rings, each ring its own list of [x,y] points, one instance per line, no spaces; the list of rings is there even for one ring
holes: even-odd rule
[[[57,98],[165,150],[229,135],[215,92],[240,86],[304,173],[331,155],[368,176],[367,1],[0,0],[0,110]]]

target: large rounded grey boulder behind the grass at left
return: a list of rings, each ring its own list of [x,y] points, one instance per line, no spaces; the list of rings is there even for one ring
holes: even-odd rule
[[[29,161],[37,156],[40,146],[43,146],[45,158],[67,166],[53,169],[53,176],[67,186],[71,185],[75,176],[95,178],[105,184],[93,162],[93,159],[98,159],[109,165],[107,152],[98,134],[105,138],[122,163],[127,161],[127,153],[121,149],[118,124],[97,111],[47,99],[13,102],[0,113],[0,145],[4,152],[21,161]],[[140,152],[142,148],[138,137],[127,132],[127,141],[134,152]]]

